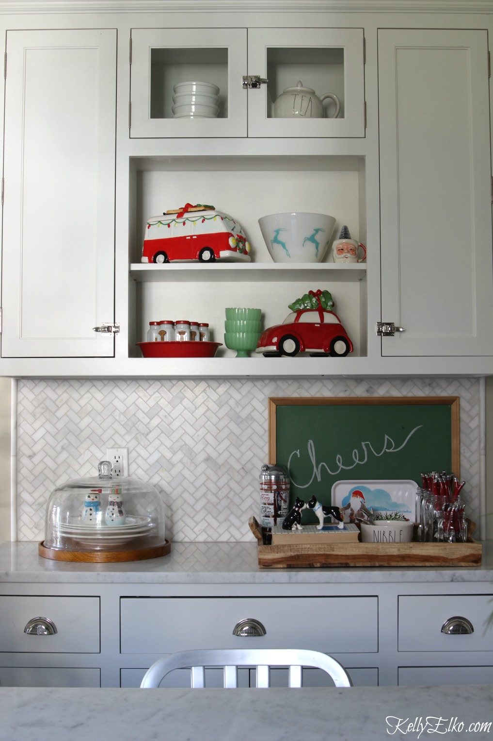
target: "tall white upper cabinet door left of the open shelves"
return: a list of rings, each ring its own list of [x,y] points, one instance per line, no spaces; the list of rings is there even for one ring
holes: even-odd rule
[[[116,31],[7,31],[1,356],[113,356]]]

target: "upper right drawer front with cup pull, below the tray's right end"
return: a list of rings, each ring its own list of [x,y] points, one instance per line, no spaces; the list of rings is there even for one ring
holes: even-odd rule
[[[399,651],[492,651],[491,594],[399,597]],[[446,634],[452,617],[472,624],[471,634]]]

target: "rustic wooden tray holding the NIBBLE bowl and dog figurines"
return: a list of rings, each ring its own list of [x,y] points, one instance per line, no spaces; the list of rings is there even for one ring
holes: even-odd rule
[[[466,543],[340,543],[326,545],[264,545],[261,526],[250,517],[257,538],[260,568],[335,566],[477,566],[482,546]]]

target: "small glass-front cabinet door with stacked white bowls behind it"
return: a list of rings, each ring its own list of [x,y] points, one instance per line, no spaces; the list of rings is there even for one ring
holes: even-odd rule
[[[244,74],[245,28],[134,28],[130,137],[246,136]]]

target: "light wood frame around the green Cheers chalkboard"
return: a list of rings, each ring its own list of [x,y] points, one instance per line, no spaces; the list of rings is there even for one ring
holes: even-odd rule
[[[460,427],[459,427],[459,411],[460,411],[460,398],[458,396],[380,396],[380,397],[284,397],[274,396],[269,397],[268,400],[268,413],[269,413],[269,462],[272,464],[282,463],[283,461],[278,460],[278,408],[281,406],[292,406],[292,407],[307,407],[307,406],[318,406],[320,407],[320,424],[326,425],[326,429],[331,429],[331,411],[335,406],[344,406],[346,408],[354,407],[355,405],[368,405],[376,407],[388,407],[390,405],[426,405],[430,406],[430,413],[433,413],[432,407],[438,405],[446,405],[450,410],[450,460],[452,463],[452,471],[455,473],[457,478],[460,478]],[[384,411],[384,410],[382,410]],[[352,411],[354,415],[354,410]],[[301,415],[300,415],[301,416]],[[446,446],[448,450],[448,439],[446,440]],[[362,476],[365,478],[364,474]],[[354,479],[357,476],[354,475],[343,475],[341,473],[338,476],[339,479]],[[361,478],[361,476],[360,476]],[[383,476],[385,478],[392,478],[391,476]],[[408,476],[399,476],[400,479],[406,479]],[[417,476],[414,477],[415,480]],[[420,480],[417,480],[420,483]]]

